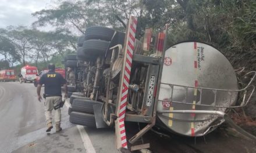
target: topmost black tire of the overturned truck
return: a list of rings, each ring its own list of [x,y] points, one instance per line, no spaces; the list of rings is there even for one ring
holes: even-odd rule
[[[106,27],[90,27],[86,29],[84,39],[101,39],[103,41],[111,41],[115,30]]]

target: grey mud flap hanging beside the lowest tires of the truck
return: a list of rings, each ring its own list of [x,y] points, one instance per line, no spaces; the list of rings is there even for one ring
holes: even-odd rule
[[[94,111],[97,129],[108,128],[108,125],[106,125],[105,121],[103,120],[103,114],[101,110],[102,110],[102,104],[93,105],[93,111]]]

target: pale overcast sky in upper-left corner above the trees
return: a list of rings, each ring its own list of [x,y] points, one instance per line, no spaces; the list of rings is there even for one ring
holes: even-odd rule
[[[0,28],[8,25],[30,25],[36,19],[31,13],[49,8],[52,0],[0,0]]]

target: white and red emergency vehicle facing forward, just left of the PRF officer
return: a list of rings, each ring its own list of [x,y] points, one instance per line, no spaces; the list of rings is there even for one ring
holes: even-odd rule
[[[33,82],[37,77],[38,70],[37,70],[37,67],[26,65],[21,68],[20,74],[22,74],[22,77],[24,78],[25,83],[27,81]]]

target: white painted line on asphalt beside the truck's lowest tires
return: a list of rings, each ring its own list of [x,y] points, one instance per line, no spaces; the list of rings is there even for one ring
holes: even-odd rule
[[[65,103],[66,107],[69,108],[70,104]],[[90,137],[88,136],[86,130],[81,125],[76,125],[76,128],[79,130],[81,139],[83,140],[84,148],[86,148],[87,153],[96,153],[93,144],[91,143]]]

